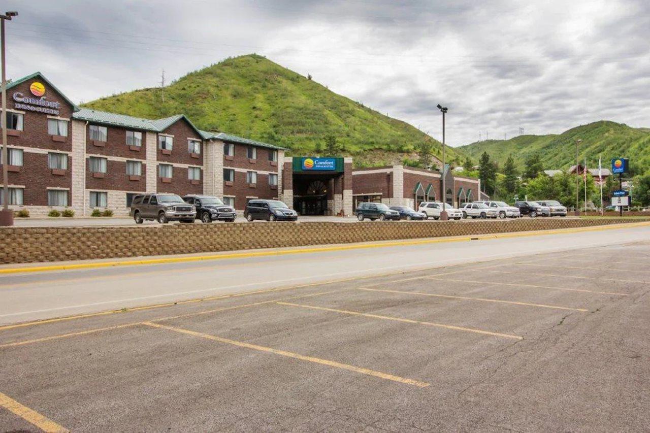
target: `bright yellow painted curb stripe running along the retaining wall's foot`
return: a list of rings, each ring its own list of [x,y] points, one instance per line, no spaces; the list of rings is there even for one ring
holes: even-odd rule
[[[558,229],[558,230],[517,231],[512,233],[495,233],[490,235],[473,235],[473,236],[462,236],[462,237],[445,237],[441,239],[424,239],[419,241],[398,241],[398,242],[379,242],[379,243],[372,243],[372,244],[319,246],[315,248],[300,248],[300,249],[292,249],[292,250],[211,254],[208,256],[191,256],[191,257],[164,257],[160,259],[105,261],[99,263],[72,263],[69,265],[6,268],[6,269],[0,269],[0,274],[18,274],[24,272],[46,272],[51,270],[98,269],[98,268],[116,267],[116,266],[157,265],[161,263],[183,263],[183,262],[190,262],[190,261],[240,259],[240,258],[247,258],[247,257],[285,256],[287,254],[310,254],[310,253],[328,252],[328,251],[360,250],[365,248],[385,248],[390,246],[467,242],[467,241],[473,241],[477,239],[508,239],[512,237],[530,237],[530,236],[554,235],[554,234],[562,234],[562,233],[581,233],[583,231],[601,231],[601,230],[614,230],[619,228],[637,228],[637,227],[643,227],[649,225],[650,222],[629,222],[629,223],[622,223],[622,224],[609,224],[607,226],[591,226],[591,227],[568,228],[568,229]]]

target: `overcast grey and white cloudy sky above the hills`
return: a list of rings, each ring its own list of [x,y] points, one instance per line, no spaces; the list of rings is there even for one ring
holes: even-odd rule
[[[248,53],[452,146],[596,120],[650,127],[647,0],[5,1],[7,75],[73,101]]]

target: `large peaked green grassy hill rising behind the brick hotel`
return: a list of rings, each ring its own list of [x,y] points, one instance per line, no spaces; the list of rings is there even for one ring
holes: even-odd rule
[[[164,102],[162,100],[164,94]],[[293,155],[324,148],[333,135],[343,155],[374,166],[413,158],[432,140],[417,128],[331,92],[311,79],[258,55],[227,59],[161,88],[144,88],[84,104],[145,118],[187,114],[197,127],[224,131],[291,149]],[[434,141],[434,155],[441,152]],[[450,150],[449,161],[458,152]],[[462,157],[458,161],[463,161]]]

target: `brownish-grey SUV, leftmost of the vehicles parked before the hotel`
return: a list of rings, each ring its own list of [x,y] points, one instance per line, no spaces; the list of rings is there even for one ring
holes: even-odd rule
[[[194,222],[196,211],[177,194],[142,194],[133,197],[129,215],[136,224],[144,220],[166,224],[170,221]]]

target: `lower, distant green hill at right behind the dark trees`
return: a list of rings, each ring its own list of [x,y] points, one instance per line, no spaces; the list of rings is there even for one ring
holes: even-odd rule
[[[485,140],[459,149],[474,161],[487,151],[500,165],[512,154],[519,168],[523,167],[528,156],[539,153],[544,168],[551,170],[575,164],[575,141],[578,139],[582,140],[580,161],[586,156],[588,166],[597,164],[599,155],[602,155],[605,167],[613,157],[629,157],[630,164],[638,167],[640,172],[650,171],[650,131],[606,120],[580,125],[559,135],[521,135],[510,140]]]

